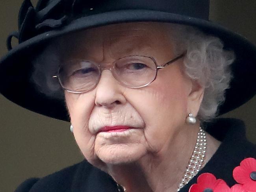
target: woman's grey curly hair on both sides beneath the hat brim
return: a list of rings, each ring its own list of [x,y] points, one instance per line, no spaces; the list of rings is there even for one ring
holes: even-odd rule
[[[208,121],[216,116],[218,106],[225,100],[225,90],[229,88],[232,78],[230,64],[235,60],[234,52],[224,50],[219,38],[207,35],[197,28],[180,24],[168,25],[174,29],[171,38],[175,54],[185,50],[187,52],[184,58],[185,73],[204,87],[204,98],[197,118]],[[60,38],[33,61],[32,81],[48,97],[64,99],[62,88],[52,76],[58,71],[65,45],[65,38]]]

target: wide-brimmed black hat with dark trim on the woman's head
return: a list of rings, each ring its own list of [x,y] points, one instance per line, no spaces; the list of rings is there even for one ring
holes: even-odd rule
[[[194,26],[222,39],[234,50],[234,78],[219,114],[247,102],[256,93],[256,47],[241,35],[209,21],[209,0],[24,0],[19,31],[7,38],[9,52],[0,61],[0,92],[36,113],[69,120],[63,100],[48,98],[30,80],[32,59],[51,39],[82,29],[121,22],[169,22]],[[19,45],[11,48],[11,38]]]

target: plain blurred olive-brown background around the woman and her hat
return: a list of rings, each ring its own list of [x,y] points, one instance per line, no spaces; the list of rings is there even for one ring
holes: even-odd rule
[[[17,30],[21,4],[22,0],[1,0],[1,57],[7,52],[7,35]],[[210,19],[256,44],[255,9],[255,0],[211,0]],[[0,192],[13,192],[26,178],[43,177],[82,161],[69,123],[30,112],[2,95],[0,106]],[[256,143],[255,113],[256,97],[224,116],[244,120],[248,139]]]

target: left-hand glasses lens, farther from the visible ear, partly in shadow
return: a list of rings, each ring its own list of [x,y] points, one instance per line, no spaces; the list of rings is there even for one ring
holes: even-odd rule
[[[64,89],[85,92],[97,85],[100,71],[91,61],[72,60],[60,66],[58,77]]]

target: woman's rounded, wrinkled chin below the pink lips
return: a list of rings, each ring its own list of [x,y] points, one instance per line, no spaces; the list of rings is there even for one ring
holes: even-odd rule
[[[95,146],[96,147],[96,146]],[[106,164],[136,162],[146,154],[143,144],[110,144],[96,150],[98,158]]]

